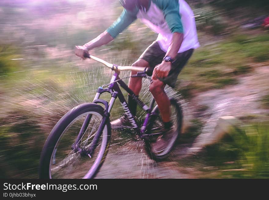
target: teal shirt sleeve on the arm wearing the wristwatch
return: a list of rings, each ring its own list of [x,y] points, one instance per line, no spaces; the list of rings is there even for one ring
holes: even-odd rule
[[[178,0],[159,0],[160,9],[164,13],[164,18],[172,33],[183,33],[181,16],[179,15]]]

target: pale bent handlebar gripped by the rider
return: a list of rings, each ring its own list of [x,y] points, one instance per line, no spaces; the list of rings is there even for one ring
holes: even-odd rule
[[[112,70],[120,70],[120,71],[122,71],[122,70],[134,70],[134,71],[138,71],[138,72],[146,72],[146,71],[148,71],[147,67],[145,68],[145,67],[138,67],[138,66],[120,66],[120,65],[111,64],[111,63],[109,63],[107,61],[104,61],[104,60],[102,60],[100,58],[97,58],[97,57],[95,57],[93,55],[90,55],[87,52],[84,52],[83,56],[85,58],[91,58],[91,59],[93,59],[95,61],[101,62],[102,64],[104,64],[105,66],[111,68]]]

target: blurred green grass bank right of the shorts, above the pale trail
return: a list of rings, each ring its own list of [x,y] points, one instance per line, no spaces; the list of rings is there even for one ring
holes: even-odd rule
[[[187,86],[188,90],[208,90],[236,84],[238,75],[252,71],[250,63],[269,60],[268,45],[268,34],[229,35],[225,40],[197,49],[188,67],[182,70],[181,79],[191,81],[192,86]],[[191,93],[186,89],[185,94]]]

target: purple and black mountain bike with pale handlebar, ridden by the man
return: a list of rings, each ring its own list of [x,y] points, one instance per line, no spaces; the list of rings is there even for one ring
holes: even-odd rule
[[[169,137],[161,131],[161,120],[158,105],[154,98],[149,106],[144,104],[133,91],[119,78],[122,70],[135,70],[137,74],[129,77],[149,78],[146,67],[119,66],[108,63],[100,58],[85,53],[85,58],[91,58],[111,68],[114,73],[108,84],[100,86],[92,103],[84,103],[68,111],[54,126],[42,149],[39,163],[40,178],[94,178],[108,153],[111,126],[110,112],[114,102],[120,103],[130,122],[133,137],[143,140],[148,155],[154,160],[167,158],[181,133],[182,109],[175,99],[171,102],[172,134]],[[150,78],[149,78],[150,79]],[[141,126],[130,112],[119,85],[126,90],[146,112]],[[108,101],[100,98],[101,94],[110,93]],[[102,106],[100,105],[102,104]],[[168,138],[167,138],[168,137]],[[162,140],[162,141],[161,141]],[[166,142],[165,147],[154,149],[159,142]]]

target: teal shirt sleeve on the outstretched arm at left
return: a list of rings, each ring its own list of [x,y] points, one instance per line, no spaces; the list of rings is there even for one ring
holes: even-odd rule
[[[106,30],[113,38],[117,37],[124,29],[126,29],[133,21],[136,15],[132,12],[123,10],[119,18]]]

